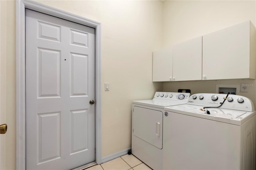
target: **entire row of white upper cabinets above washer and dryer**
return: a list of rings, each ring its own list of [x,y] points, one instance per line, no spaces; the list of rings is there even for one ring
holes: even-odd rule
[[[251,21],[153,53],[153,82],[256,78],[256,28]]]

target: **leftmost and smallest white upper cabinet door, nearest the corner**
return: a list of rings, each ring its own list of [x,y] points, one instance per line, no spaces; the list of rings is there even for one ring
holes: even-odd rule
[[[153,82],[172,81],[172,46],[153,52]]]

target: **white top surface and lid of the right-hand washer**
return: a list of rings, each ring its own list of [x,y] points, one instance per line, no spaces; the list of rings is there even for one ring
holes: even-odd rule
[[[207,114],[206,109],[204,109],[205,111],[200,110],[203,109],[203,107],[204,106],[184,104],[179,106],[165,107],[164,110],[234,125],[242,125],[245,121],[256,115],[255,111],[249,112],[220,108],[207,108],[207,110],[210,111],[210,114]]]

